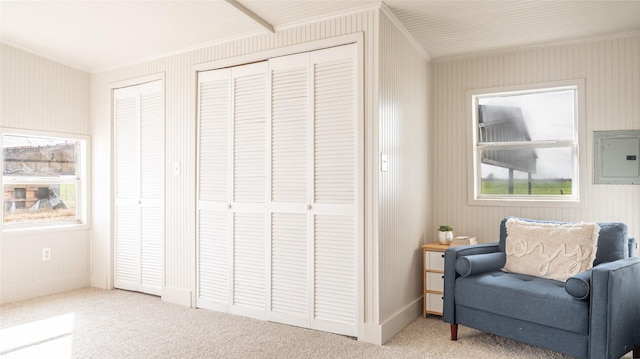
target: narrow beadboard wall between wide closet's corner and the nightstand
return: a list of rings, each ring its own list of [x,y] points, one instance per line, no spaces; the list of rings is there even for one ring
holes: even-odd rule
[[[378,220],[380,318],[422,304],[422,250],[429,237],[428,72],[431,65],[386,16],[380,19]],[[421,307],[420,307],[421,308]]]

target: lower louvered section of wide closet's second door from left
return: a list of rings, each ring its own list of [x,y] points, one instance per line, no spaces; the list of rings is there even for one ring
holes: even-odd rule
[[[264,213],[235,213],[233,313],[258,318],[265,316],[265,246]]]

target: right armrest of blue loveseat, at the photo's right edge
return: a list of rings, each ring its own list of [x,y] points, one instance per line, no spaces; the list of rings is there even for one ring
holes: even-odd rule
[[[640,257],[591,270],[590,358],[619,358],[640,347]]]

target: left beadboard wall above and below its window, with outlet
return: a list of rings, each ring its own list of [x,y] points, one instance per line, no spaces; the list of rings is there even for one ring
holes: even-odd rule
[[[0,44],[0,126],[90,135],[90,83],[88,73]],[[89,285],[88,229],[0,235],[0,302]]]

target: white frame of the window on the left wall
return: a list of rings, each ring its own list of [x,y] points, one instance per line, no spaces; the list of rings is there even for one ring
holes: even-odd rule
[[[50,231],[52,229],[66,228],[88,228],[89,227],[89,162],[90,153],[90,136],[73,133],[62,133],[53,131],[36,131],[17,128],[0,127],[0,147],[3,147],[4,136],[15,135],[24,137],[44,137],[59,138],[78,141],[78,150],[76,153],[76,175],[69,177],[30,177],[30,176],[5,176],[4,175],[4,150],[0,154],[2,159],[3,173],[0,176],[0,187],[4,191],[5,185],[27,184],[27,185],[50,185],[50,184],[73,184],[76,186],[76,219],[64,221],[43,221],[43,222],[20,222],[20,223],[4,223],[4,199],[3,210],[0,212],[0,227],[2,232],[23,231],[23,230],[42,230]]]

